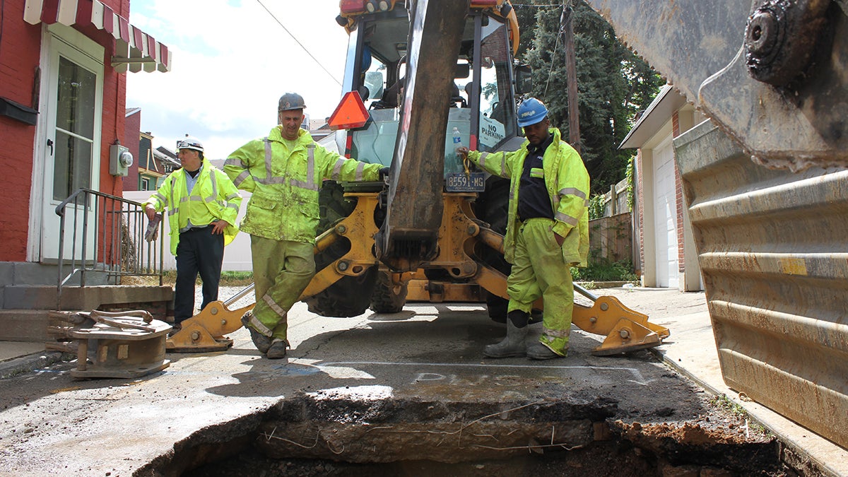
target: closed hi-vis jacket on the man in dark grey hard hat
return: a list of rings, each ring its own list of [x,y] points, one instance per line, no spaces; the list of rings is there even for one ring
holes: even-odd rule
[[[315,243],[322,182],[378,181],[381,167],[328,151],[304,129],[290,151],[281,126],[235,150],[224,163],[236,187],[253,194],[241,223],[244,232],[310,244]]]

